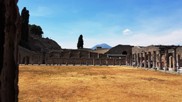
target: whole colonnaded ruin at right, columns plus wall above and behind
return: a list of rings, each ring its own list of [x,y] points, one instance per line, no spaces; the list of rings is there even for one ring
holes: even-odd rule
[[[182,67],[181,46],[152,45],[133,47],[133,66],[177,71]]]

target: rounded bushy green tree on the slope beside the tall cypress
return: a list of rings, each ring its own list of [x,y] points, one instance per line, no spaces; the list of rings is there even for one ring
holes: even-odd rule
[[[29,29],[30,29],[30,34],[37,35],[39,37],[42,37],[42,34],[44,33],[42,31],[42,28],[38,25],[35,25],[35,24],[29,25]]]

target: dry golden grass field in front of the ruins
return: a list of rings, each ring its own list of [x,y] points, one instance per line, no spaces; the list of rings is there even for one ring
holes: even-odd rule
[[[182,76],[126,66],[20,66],[20,102],[182,102]]]

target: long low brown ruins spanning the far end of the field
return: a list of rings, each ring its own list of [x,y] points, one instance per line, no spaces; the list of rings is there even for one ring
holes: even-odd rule
[[[117,50],[118,54],[113,54],[114,50]],[[126,58],[129,62],[131,50],[132,46],[119,45],[104,54],[91,49],[61,49],[36,53],[20,47],[19,60],[20,64],[125,65]]]

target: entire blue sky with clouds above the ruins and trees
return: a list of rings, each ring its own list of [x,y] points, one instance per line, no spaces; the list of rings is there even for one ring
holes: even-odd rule
[[[107,43],[182,45],[182,0],[19,0],[30,24],[62,48]]]

